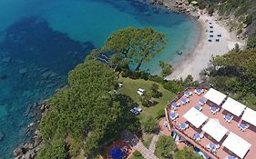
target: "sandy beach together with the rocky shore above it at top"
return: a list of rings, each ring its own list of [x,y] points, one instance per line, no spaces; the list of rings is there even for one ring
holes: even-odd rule
[[[235,44],[242,49],[246,45],[246,40],[238,39],[236,31],[230,32],[228,22],[221,19],[219,15],[208,15],[205,10],[189,5],[189,3],[168,0],[153,0],[153,5],[164,5],[174,12],[189,15],[197,19],[199,24],[199,38],[196,45],[188,50],[188,53],[181,55],[179,63],[173,66],[173,73],[165,77],[167,80],[184,79],[192,75],[194,80],[202,81],[200,73],[210,65],[212,56],[225,55],[230,52]],[[213,28],[210,28],[210,23]],[[210,33],[210,30],[213,33]],[[220,34],[221,37],[218,37]],[[213,35],[213,37],[210,37]],[[216,42],[216,38],[220,42]],[[212,42],[208,40],[211,39]]]

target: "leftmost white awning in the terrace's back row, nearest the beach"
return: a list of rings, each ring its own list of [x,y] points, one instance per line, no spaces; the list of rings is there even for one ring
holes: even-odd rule
[[[210,90],[204,94],[204,97],[209,99],[214,104],[220,105],[227,95],[220,93],[219,91],[210,88]]]

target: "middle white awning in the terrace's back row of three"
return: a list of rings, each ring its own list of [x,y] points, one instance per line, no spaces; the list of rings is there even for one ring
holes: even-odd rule
[[[227,101],[222,105],[222,108],[229,111],[231,114],[240,116],[246,106],[229,97]]]

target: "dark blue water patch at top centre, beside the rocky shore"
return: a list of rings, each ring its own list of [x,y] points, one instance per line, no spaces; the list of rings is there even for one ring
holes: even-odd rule
[[[149,0],[94,0],[94,2],[112,5],[120,12],[132,15],[143,25],[173,27],[189,20],[189,16],[169,11],[163,5],[150,5]]]

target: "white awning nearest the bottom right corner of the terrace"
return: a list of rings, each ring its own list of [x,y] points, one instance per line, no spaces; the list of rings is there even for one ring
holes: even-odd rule
[[[243,158],[251,147],[251,144],[232,132],[230,132],[229,136],[222,145],[228,148],[234,154],[237,154],[240,158]]]

